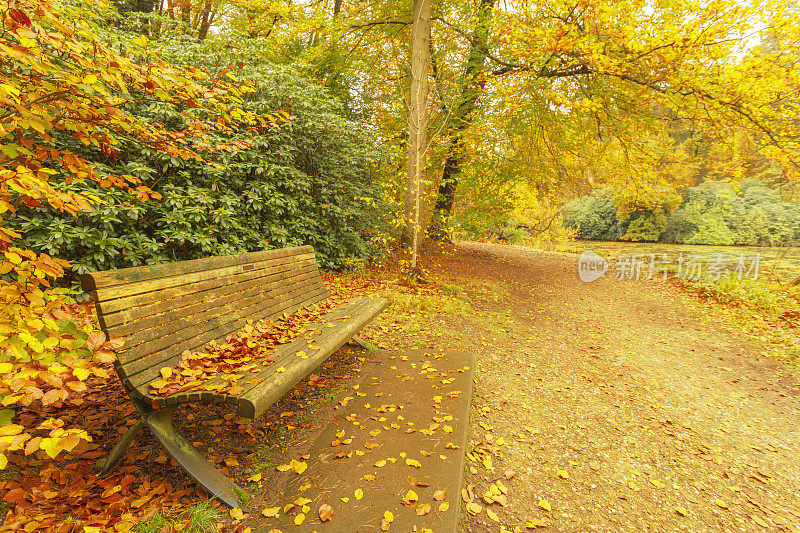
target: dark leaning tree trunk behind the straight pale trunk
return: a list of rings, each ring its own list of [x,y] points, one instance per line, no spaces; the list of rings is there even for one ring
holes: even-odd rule
[[[447,130],[447,156],[442,172],[442,181],[436,195],[433,217],[428,226],[428,236],[436,240],[447,238],[447,219],[453,210],[464,154],[464,132],[472,122],[475,106],[486,86],[486,59],[489,42],[489,22],[495,0],[481,0],[475,30],[469,45],[467,65],[464,69],[461,95],[456,101]]]

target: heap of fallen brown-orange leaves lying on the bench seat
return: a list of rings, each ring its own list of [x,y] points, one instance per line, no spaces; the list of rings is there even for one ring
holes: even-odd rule
[[[185,351],[175,367],[161,368],[161,379],[150,383],[150,394],[167,397],[191,389],[214,391],[236,396],[244,392],[238,384],[247,374],[258,374],[275,362],[268,358],[276,346],[288,344],[306,333],[305,326],[320,321],[335,303],[328,299],[313,307],[300,309],[274,322],[269,319],[246,324],[230,335],[224,344],[212,341],[203,351]],[[310,345],[313,346],[313,345]],[[210,382],[212,378],[215,379]],[[255,385],[264,378],[249,377],[245,385]]]

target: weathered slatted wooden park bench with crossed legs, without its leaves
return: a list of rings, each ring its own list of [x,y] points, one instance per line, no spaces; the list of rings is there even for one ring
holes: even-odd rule
[[[383,311],[381,298],[356,298],[329,312],[314,337],[313,348],[302,336],[277,346],[259,377],[237,394],[190,389],[167,397],[150,393],[160,369],[174,366],[185,350],[201,350],[212,340],[235,334],[248,320],[293,313],[327,299],[310,246],[209,257],[160,265],[95,272],[81,276],[91,291],[102,330],[122,337],[114,367],[141,414],[114,446],[103,473],[125,454],[136,434],[147,426],[167,451],[211,494],[238,507],[245,494],[214,468],[172,425],[178,405],[187,402],[230,404],[242,417],[255,418],[310,374],[349,340],[363,345],[356,333]],[[334,327],[330,327],[331,323]],[[329,327],[323,327],[328,325]],[[312,326],[305,326],[309,330]],[[307,358],[296,355],[299,350]],[[280,371],[279,371],[280,370]],[[237,391],[238,392],[238,391]]]

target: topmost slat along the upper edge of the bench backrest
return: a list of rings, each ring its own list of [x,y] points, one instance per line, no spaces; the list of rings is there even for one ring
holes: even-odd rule
[[[85,291],[94,291],[99,287],[111,287],[114,285],[135,283],[151,279],[176,276],[201,270],[211,270],[224,268],[226,266],[264,261],[268,259],[278,259],[293,255],[313,254],[311,246],[295,246],[291,248],[279,248],[276,250],[262,250],[260,252],[249,252],[245,254],[225,255],[206,257],[204,259],[193,259],[190,261],[178,261],[174,263],[162,263],[159,265],[147,265],[130,268],[120,268],[117,270],[106,270],[94,272],[81,276],[81,285]]]

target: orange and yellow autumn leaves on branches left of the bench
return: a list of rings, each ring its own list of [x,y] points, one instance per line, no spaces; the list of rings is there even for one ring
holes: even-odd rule
[[[178,69],[151,53],[145,36],[125,43],[127,53],[102,42],[98,7],[21,0],[0,8],[0,213],[27,205],[75,214],[98,201],[65,192],[62,184],[71,182],[128,189],[142,200],[157,196],[136,177],[100,172],[65,146],[113,160],[121,142],[134,142],[202,160],[201,151],[241,147],[234,134],[242,128],[271,123],[233,105],[250,89],[233,84],[227,72],[211,77]],[[130,112],[137,102],[172,106],[186,126],[174,131],[143,120]],[[219,143],[225,135],[230,141]],[[74,305],[69,290],[53,283],[69,264],[15,245],[20,237],[0,223],[0,398],[6,407],[0,412],[0,468],[9,454],[44,450],[55,458],[91,439],[58,419],[36,427],[13,423],[15,408],[76,401],[87,379],[108,377],[101,365],[118,347]]]

